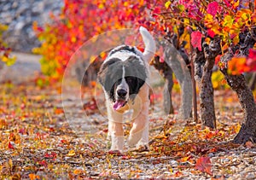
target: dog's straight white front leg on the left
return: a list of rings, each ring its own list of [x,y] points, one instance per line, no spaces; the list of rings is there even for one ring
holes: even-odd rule
[[[111,138],[111,150],[124,150],[123,114],[113,110],[108,103],[108,138]]]

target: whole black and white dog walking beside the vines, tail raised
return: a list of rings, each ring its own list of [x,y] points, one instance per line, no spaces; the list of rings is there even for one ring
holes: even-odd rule
[[[118,46],[109,52],[98,73],[106,96],[111,150],[124,150],[123,113],[128,109],[133,109],[128,145],[148,147],[148,62],[156,48],[148,30],[141,26],[139,31],[145,44],[144,52],[128,45]]]

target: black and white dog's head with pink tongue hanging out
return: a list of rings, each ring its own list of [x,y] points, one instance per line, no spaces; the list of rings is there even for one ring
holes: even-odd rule
[[[147,73],[142,62],[140,57],[131,55],[125,61],[111,58],[102,64],[98,80],[113,102],[113,109],[133,100],[145,83]]]

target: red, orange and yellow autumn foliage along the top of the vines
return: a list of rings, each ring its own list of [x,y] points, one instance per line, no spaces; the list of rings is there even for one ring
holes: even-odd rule
[[[188,54],[190,43],[201,50],[202,41],[209,42],[219,36],[220,55],[223,55],[228,47],[239,43],[241,32],[253,28],[256,23],[253,4],[244,2],[65,0],[61,15],[50,16],[52,23],[44,27],[34,23],[33,28],[43,43],[34,52],[43,55],[43,73],[60,79],[75,50],[97,34],[138,26],[146,26],[158,34],[166,31],[177,34],[179,26],[186,26],[177,45],[185,41]],[[250,57],[235,57],[229,65],[220,67],[229,66],[232,73],[255,71],[253,52],[255,49],[251,50]]]

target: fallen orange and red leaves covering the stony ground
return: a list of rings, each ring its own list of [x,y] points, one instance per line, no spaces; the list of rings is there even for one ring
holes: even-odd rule
[[[174,94],[177,109],[179,93]],[[154,114],[150,114],[149,149],[124,153],[108,150],[107,119],[97,118],[100,112],[94,99],[87,99],[83,106],[96,129],[90,133],[81,128],[84,112],[76,102],[71,108],[80,119],[76,129],[71,128],[58,86],[2,84],[0,95],[1,178],[256,178],[255,144],[231,142],[242,113],[229,90],[215,93],[217,130],[201,129],[192,119],[177,129],[174,115],[155,113],[153,109],[161,103],[155,102],[150,110]],[[130,128],[125,122],[125,135]]]

